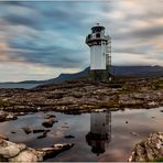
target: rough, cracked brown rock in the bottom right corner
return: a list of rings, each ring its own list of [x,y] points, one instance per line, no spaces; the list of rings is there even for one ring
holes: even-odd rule
[[[154,132],[135,144],[129,162],[153,162],[160,157],[163,157],[163,132]]]

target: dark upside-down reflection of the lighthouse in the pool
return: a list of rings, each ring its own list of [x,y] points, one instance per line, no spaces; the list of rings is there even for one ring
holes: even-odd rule
[[[90,115],[90,132],[86,135],[86,141],[93,153],[105,153],[106,145],[111,141],[111,112]]]

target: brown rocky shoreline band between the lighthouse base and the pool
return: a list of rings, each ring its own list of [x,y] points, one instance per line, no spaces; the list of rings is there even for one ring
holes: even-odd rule
[[[154,108],[163,106],[163,80],[118,79],[93,84],[72,80],[33,89],[0,89],[0,110],[10,112],[90,112],[97,109]]]

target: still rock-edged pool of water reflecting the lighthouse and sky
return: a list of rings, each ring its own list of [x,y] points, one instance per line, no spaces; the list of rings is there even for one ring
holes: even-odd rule
[[[137,142],[154,131],[163,131],[163,108],[126,109],[124,111],[64,115],[39,112],[0,123],[0,133],[13,142],[31,148],[51,146],[54,143],[75,143],[57,156],[46,161],[127,161]],[[40,133],[25,134],[21,129],[41,129],[44,117],[53,113],[58,120],[44,139]],[[17,133],[11,133],[15,131]],[[65,139],[72,134],[74,139]]]

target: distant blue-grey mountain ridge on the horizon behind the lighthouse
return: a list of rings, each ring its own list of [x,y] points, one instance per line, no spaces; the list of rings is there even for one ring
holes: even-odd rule
[[[26,80],[17,84],[58,84],[65,80],[76,79],[88,76],[89,67],[75,74],[61,74],[56,78],[47,80]],[[131,76],[131,77],[160,77],[163,76],[162,66],[112,66],[111,74],[115,76]],[[10,83],[15,84],[15,83]]]

